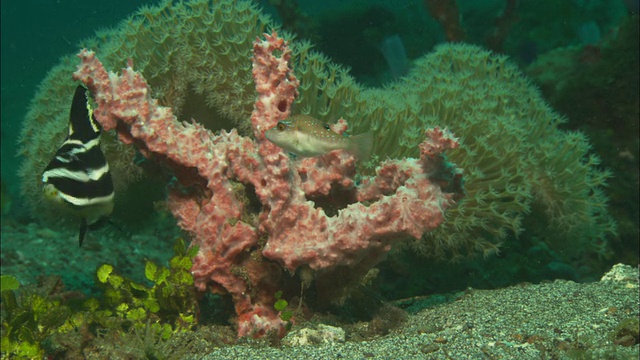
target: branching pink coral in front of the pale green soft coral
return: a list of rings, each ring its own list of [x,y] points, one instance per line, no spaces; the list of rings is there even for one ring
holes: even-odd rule
[[[117,75],[91,51],[78,56],[73,76],[93,94],[98,122],[179,180],[168,204],[199,247],[195,285],[232,296],[239,336],[283,334],[286,324],[273,304],[287,272],[307,267],[325,279],[344,274],[339,269],[363,275],[393,243],[442,223],[462,194],[461,171],[441,154],[458,146],[446,129],[426,131],[419,159],[387,160],[375,176],[358,181],[348,152],[294,160],[266,140],[265,130],[290,115],[299,85],[291,51],[275,33],[254,42],[253,138],[178,121],[151,97],[131,61]],[[336,128],[344,130],[346,122]],[[193,188],[198,191],[185,191]]]

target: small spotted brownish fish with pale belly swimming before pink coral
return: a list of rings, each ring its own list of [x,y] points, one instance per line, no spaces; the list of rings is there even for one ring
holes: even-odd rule
[[[344,149],[358,160],[366,160],[371,155],[373,147],[371,131],[346,137],[309,115],[294,115],[279,121],[276,126],[265,132],[265,136],[279,147],[306,157]]]

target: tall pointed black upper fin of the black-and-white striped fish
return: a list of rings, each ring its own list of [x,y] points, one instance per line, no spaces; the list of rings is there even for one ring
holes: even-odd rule
[[[71,111],[69,113],[69,135],[68,140],[77,140],[87,143],[100,136],[102,128],[93,117],[93,109],[87,98],[88,90],[78,85],[73,95]]]

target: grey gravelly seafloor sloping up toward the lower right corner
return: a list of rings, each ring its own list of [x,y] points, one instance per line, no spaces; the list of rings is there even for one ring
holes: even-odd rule
[[[278,348],[248,343],[213,349],[205,359],[637,360],[638,316],[638,268],[616,265],[594,283],[469,289],[370,341]]]

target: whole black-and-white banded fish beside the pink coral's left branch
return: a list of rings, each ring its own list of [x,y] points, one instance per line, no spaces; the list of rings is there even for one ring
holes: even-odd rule
[[[80,246],[87,228],[99,225],[113,210],[113,181],[100,149],[101,130],[87,89],[79,85],[71,104],[69,134],[42,174],[45,198],[81,218]]]

